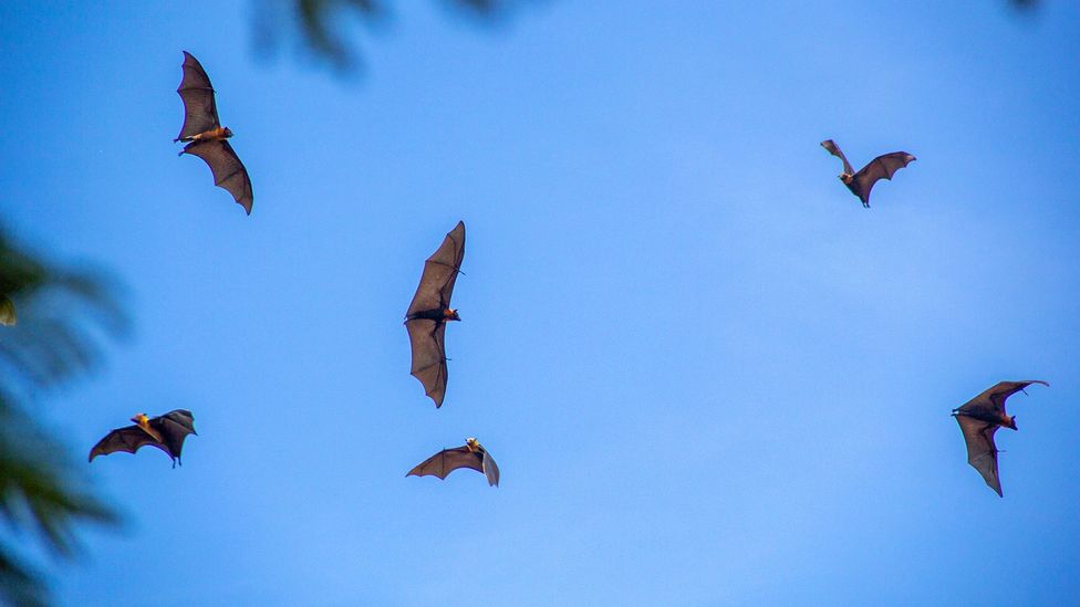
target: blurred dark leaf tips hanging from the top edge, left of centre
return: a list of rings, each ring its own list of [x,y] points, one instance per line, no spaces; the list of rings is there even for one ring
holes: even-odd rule
[[[438,3],[456,13],[494,22],[512,4],[522,1],[438,0]],[[390,14],[391,3],[388,0],[256,0],[256,45],[272,51],[279,46],[282,32],[292,32],[315,60],[350,72],[361,62],[345,30],[353,23],[380,24]]]

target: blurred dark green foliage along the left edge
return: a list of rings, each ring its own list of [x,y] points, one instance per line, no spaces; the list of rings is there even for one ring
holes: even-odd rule
[[[11,531],[0,536],[0,603],[48,601],[40,576],[7,545],[14,538],[32,534],[51,554],[71,557],[76,524],[116,522],[27,412],[41,393],[93,369],[102,338],[127,332],[105,284],[37,259],[0,230],[0,302],[18,318],[0,326],[0,519]]]

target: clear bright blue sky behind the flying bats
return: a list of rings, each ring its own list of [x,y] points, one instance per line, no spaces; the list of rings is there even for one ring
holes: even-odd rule
[[[87,467],[128,525],[65,604],[1077,600],[1080,6],[395,4],[352,81],[249,2],[0,6],[3,222],[136,327],[43,415],[199,430]],[[181,50],[250,218],[176,157]],[[868,211],[825,138],[918,160]],[[401,321],[459,219],[436,410]],[[1025,378],[999,499],[948,414]],[[499,489],[405,478],[467,436]]]

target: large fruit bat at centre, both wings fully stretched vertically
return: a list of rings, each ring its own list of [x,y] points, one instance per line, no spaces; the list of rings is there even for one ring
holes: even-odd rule
[[[405,312],[405,328],[413,349],[412,375],[424,385],[436,408],[443,406],[446,396],[446,323],[461,320],[457,310],[450,307],[450,295],[464,258],[465,222],[458,221],[438,250],[424,262],[420,284]]]

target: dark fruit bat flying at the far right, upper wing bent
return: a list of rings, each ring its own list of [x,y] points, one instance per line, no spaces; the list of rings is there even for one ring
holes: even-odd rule
[[[1016,417],[1009,417],[1005,412],[1005,400],[1031,384],[1049,386],[1040,379],[1000,381],[968,400],[963,407],[953,409],[953,417],[960,425],[964,441],[967,442],[967,463],[978,470],[986,485],[1003,498],[1001,480],[997,474],[998,450],[994,444],[994,432],[997,432],[1000,427],[1016,430]]]

